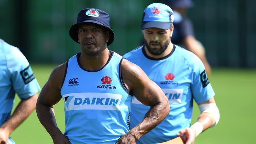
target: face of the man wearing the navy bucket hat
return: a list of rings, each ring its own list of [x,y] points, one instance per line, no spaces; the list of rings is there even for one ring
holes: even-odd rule
[[[80,24],[78,26],[78,41],[85,54],[95,56],[107,48],[109,32],[98,24]]]

